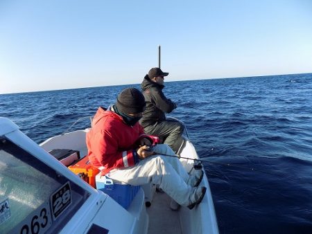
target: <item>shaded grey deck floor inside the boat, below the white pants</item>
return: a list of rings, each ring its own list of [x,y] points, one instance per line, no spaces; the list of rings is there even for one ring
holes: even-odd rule
[[[146,207],[149,216],[148,234],[182,233],[179,211],[171,210],[171,198],[164,192],[155,192],[150,207]]]

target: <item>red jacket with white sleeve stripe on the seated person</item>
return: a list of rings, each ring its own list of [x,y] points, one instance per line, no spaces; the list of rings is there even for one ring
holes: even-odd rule
[[[89,161],[96,168],[104,167],[102,174],[114,168],[128,168],[139,161],[135,149],[143,127],[136,123],[126,125],[113,111],[99,107],[87,132]]]

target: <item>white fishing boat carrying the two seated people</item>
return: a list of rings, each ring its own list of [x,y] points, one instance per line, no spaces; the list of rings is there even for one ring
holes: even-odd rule
[[[200,184],[206,195],[191,210],[171,210],[169,197],[153,185],[139,187],[134,195],[120,194],[130,196],[125,208],[48,153],[69,149],[83,158],[88,131],[53,136],[37,145],[15,123],[0,118],[0,233],[218,233],[206,175]],[[191,159],[198,154],[190,141],[180,156],[187,172],[193,172]]]

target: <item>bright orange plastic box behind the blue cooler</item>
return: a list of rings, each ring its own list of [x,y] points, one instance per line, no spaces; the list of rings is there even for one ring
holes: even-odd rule
[[[84,181],[89,183],[90,186],[92,186],[93,188],[96,188],[95,177],[96,177],[96,174],[100,172],[100,170],[98,170],[98,168],[94,168],[91,165],[88,156],[85,156],[83,159],[78,161],[75,165],[70,165],[68,168],[73,173],[81,177]]]

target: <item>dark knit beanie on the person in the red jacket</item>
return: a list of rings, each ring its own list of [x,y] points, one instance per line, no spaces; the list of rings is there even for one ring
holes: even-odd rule
[[[140,113],[145,109],[145,99],[138,89],[124,89],[117,97],[116,107],[125,114]]]

